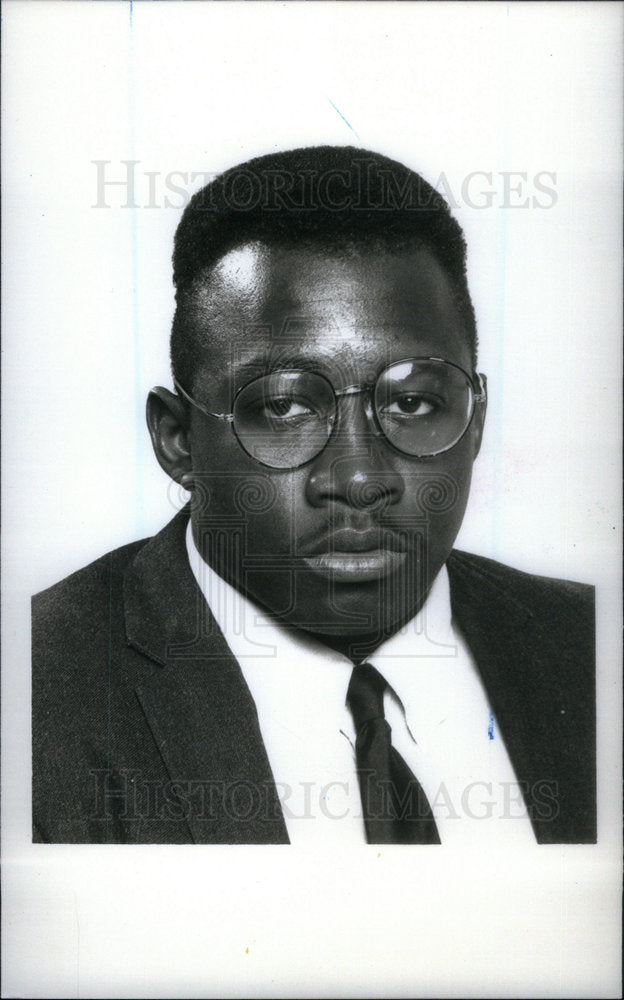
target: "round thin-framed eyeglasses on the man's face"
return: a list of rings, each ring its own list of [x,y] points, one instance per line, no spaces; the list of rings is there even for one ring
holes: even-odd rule
[[[485,375],[473,378],[442,358],[406,358],[376,380],[335,389],[317,372],[285,369],[242,386],[231,413],[212,413],[174,379],[180,393],[207,417],[227,421],[241,448],[272,469],[296,469],[325,448],[338,416],[338,401],[363,395],[377,437],[413,458],[448,451],[464,436],[477,404],[487,400]]]

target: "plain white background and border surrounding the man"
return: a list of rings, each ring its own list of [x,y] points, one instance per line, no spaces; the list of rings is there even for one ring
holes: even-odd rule
[[[9,0],[3,20],[4,995],[619,995],[621,5]],[[457,203],[490,389],[458,545],[598,587],[601,845],[32,846],[29,595],[173,512],[143,420],[170,385],[166,178],[325,142],[444,174]],[[139,207],[115,187],[94,207],[94,160],[139,161]],[[508,197],[505,171],[526,174]]]

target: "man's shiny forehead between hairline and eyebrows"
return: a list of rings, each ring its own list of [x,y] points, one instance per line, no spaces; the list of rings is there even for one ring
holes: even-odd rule
[[[206,370],[309,362],[331,371],[415,355],[470,366],[451,282],[422,247],[247,244],[196,280],[189,307]]]

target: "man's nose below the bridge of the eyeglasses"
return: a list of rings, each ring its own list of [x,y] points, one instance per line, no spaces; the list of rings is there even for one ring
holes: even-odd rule
[[[392,446],[373,427],[361,396],[340,400],[332,435],[309,466],[306,499],[312,506],[380,511],[399,502],[405,481]]]

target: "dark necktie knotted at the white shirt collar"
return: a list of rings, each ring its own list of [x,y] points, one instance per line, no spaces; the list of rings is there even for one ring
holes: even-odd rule
[[[355,724],[355,756],[369,844],[439,844],[420,784],[390,742],[383,710],[387,684],[370,664],[354,667],[347,704]]]

